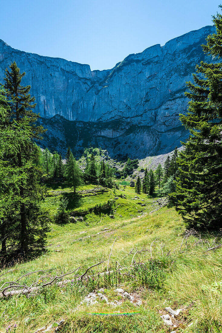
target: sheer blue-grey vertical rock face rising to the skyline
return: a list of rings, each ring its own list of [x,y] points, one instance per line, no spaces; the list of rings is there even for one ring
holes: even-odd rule
[[[131,54],[104,71],[91,71],[89,65],[15,50],[0,40],[0,82],[5,68],[16,61],[20,70],[26,72],[23,85],[31,85],[36,112],[42,118],[60,115],[76,121],[77,131],[78,122],[82,122],[81,128],[86,123],[95,123],[91,141],[96,137],[100,142],[109,139],[111,146],[110,140],[116,142],[120,138],[121,143],[136,125],[140,140],[141,136],[145,140],[144,152],[151,153],[156,145],[161,150],[176,143],[175,138],[171,143],[164,138],[170,140],[170,132],[181,125],[178,116],[186,112],[188,102],[184,96],[185,82],[192,79],[197,63],[211,61],[203,54],[201,44],[214,32],[213,26],[191,31],[162,47],[157,44]],[[136,140],[134,135],[133,140]],[[78,144],[73,142],[73,147]],[[116,149],[121,144],[114,146]],[[124,149],[130,153],[131,148]]]

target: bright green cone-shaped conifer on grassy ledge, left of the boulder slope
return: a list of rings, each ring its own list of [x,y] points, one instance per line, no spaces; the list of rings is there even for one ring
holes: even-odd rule
[[[71,152],[66,166],[66,178],[67,183],[73,187],[74,194],[76,194],[76,188],[82,184],[82,172]]]

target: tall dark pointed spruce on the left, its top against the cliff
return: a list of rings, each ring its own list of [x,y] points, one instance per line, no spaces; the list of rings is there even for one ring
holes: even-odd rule
[[[14,231],[7,236],[7,242],[11,244],[8,252],[17,251],[17,254],[24,255],[30,249],[44,248],[48,230],[48,217],[39,204],[43,196],[43,189],[39,185],[42,172],[38,167],[39,150],[34,144],[35,139],[41,139],[44,129],[35,124],[39,116],[32,111],[35,98],[29,94],[31,87],[21,85],[25,73],[20,74],[15,62],[10,65],[10,70],[6,69],[4,79],[9,100],[3,135],[7,127],[14,127],[14,136],[11,138],[13,148],[6,150],[3,159],[9,167],[19,170],[20,182],[14,193],[18,209],[14,211],[12,207]]]

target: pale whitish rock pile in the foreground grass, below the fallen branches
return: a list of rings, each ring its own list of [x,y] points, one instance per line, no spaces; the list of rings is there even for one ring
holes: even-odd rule
[[[107,305],[117,306],[117,305],[122,305],[122,303],[127,299],[134,306],[140,306],[142,304],[142,301],[140,299],[137,299],[136,297],[130,295],[127,291],[124,291],[122,288],[116,288],[115,292],[117,293],[117,296],[120,296],[122,298],[120,301],[117,300],[109,301],[108,298],[103,294],[104,288],[100,288],[95,292],[89,293],[80,304],[82,305],[86,303],[87,305],[94,305],[98,303],[98,300],[104,300]]]

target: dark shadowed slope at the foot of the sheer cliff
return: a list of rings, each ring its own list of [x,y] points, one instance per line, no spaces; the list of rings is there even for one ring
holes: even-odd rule
[[[112,159],[145,159],[168,154],[176,146],[181,147],[181,141],[189,137],[183,126],[159,132],[154,126],[136,126],[123,119],[106,123],[77,122],[56,115],[50,119],[41,118],[39,123],[47,132],[38,144],[51,152],[58,151],[63,157],[68,147],[78,158],[84,148],[93,146],[106,149]]]

